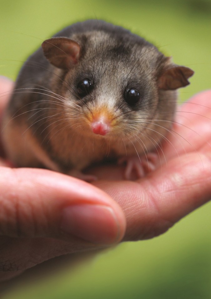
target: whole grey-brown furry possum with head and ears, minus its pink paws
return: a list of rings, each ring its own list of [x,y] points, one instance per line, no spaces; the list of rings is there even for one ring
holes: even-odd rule
[[[171,128],[175,89],[191,75],[121,27],[96,20],[69,26],[18,75],[4,117],[8,157],[16,166],[69,173],[147,154]]]

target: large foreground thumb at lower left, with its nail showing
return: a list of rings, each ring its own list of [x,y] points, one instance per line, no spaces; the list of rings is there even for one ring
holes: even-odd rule
[[[125,217],[101,190],[70,176],[42,169],[3,168],[0,234],[52,237],[93,244],[119,242]]]

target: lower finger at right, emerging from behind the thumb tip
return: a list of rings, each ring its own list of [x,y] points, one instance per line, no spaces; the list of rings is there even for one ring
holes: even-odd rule
[[[211,155],[175,158],[139,182],[95,182],[122,207],[127,220],[124,240],[155,237],[211,197]],[[182,165],[182,167],[181,167]]]

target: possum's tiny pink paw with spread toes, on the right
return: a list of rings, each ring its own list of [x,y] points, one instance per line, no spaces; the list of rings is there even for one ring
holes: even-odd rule
[[[134,180],[134,177],[142,178],[148,172],[154,171],[156,168],[156,162],[158,155],[155,153],[149,153],[142,155],[141,157],[132,156],[132,157],[121,157],[118,160],[118,164],[126,164],[124,177],[126,180]],[[135,176],[134,176],[135,172]]]

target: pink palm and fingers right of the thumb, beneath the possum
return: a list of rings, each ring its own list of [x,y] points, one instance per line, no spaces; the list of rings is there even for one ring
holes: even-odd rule
[[[125,213],[123,240],[158,236],[211,199],[211,90],[178,107],[159,157],[162,167],[137,181],[122,181],[124,169],[118,166],[91,170],[100,179],[95,186]]]

